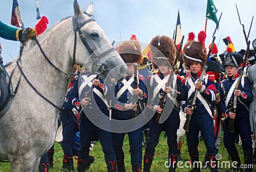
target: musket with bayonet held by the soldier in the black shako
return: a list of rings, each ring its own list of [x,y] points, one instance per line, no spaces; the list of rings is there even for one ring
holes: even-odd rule
[[[240,19],[240,15],[239,15],[237,6],[236,6],[236,10],[237,10],[237,15],[238,15],[238,18],[239,18],[239,22],[241,24],[241,19]],[[252,20],[253,20],[253,18],[252,18]],[[245,42],[246,42],[247,48],[246,48],[246,52],[245,52],[244,59],[243,59],[243,66],[241,68],[241,72],[240,72],[239,77],[237,79],[235,90],[239,90],[239,86],[241,84],[241,79],[242,79],[243,74],[244,74],[244,66],[245,66],[245,63],[246,63],[246,59],[247,59],[248,54],[250,52],[250,41],[248,41],[248,38],[249,38],[252,22],[251,22],[250,30],[248,32],[248,36],[246,36],[245,30],[244,30],[244,24],[241,24],[241,25],[243,26],[243,33],[244,33],[244,38],[245,38]],[[234,101],[230,105],[230,111],[232,113],[236,113],[236,106],[237,106],[237,96],[234,95]],[[235,130],[235,119],[230,119],[230,121],[228,123],[228,130],[230,132],[234,132],[234,130]]]

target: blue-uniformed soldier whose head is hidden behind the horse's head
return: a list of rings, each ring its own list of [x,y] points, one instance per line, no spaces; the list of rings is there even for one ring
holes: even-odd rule
[[[111,141],[111,132],[102,130],[90,121],[87,117],[88,114],[97,115],[99,113],[104,113],[106,116],[109,116],[108,106],[104,101],[104,93],[106,93],[106,87],[103,85],[103,81],[99,78],[96,78],[96,75],[80,75],[81,82],[88,82],[83,88],[79,88],[78,80],[74,82],[72,91],[70,92],[70,100],[74,106],[76,102],[79,102],[79,90],[81,91],[81,106],[83,111],[80,113],[80,150],[78,153],[77,161],[77,171],[84,172],[90,168],[92,160],[89,157],[90,144],[92,139],[95,137],[95,133],[99,138],[100,144],[102,145],[102,150],[105,155],[105,161],[107,164],[108,172],[117,171],[116,168],[116,155]],[[85,92],[90,92],[90,88],[93,87],[92,95],[87,95],[93,97],[94,100],[90,100],[89,97],[86,97]],[[85,91],[85,92],[84,92]],[[108,121],[106,121],[108,122]]]

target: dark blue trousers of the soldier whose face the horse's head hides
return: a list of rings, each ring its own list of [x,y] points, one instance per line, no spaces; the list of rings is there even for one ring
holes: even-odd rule
[[[97,134],[100,144],[102,146],[102,150],[105,155],[106,164],[116,161],[115,150],[112,144],[112,134],[111,132],[100,129],[95,126],[91,121],[87,118],[85,120],[80,121],[80,150],[78,153],[78,159],[82,159],[83,161],[88,161],[90,144],[92,139],[95,137],[94,134]]]

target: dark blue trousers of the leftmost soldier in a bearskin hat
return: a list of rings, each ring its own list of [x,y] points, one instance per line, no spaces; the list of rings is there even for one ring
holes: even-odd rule
[[[129,145],[130,145],[130,152],[131,152],[131,164],[140,165],[142,162],[142,141],[143,141],[143,129],[134,130],[132,132],[127,132],[129,137]],[[124,161],[124,136],[126,133],[113,133],[113,146],[116,153],[116,159],[118,161]]]

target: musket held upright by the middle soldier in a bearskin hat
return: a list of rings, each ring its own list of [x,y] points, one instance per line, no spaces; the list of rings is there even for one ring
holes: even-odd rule
[[[171,70],[168,81],[166,82],[166,86],[168,86],[168,87],[170,87],[170,84],[171,84],[171,81],[172,81],[173,71],[177,70],[177,64],[176,63],[177,63],[177,60],[179,58],[179,54],[180,54],[180,50],[182,48],[183,40],[184,40],[184,35],[182,36],[182,39],[181,39],[181,42],[180,42],[180,47],[179,47],[178,51],[176,52],[176,56],[175,56],[175,59],[173,61],[173,68],[172,68],[173,70]],[[165,103],[166,103],[166,95],[167,95],[167,93],[164,91],[162,97],[159,100],[159,106],[160,106],[161,109],[164,109],[164,106],[165,106]],[[160,125],[159,120],[161,118],[161,114],[162,113],[157,114],[156,123],[158,125]]]

